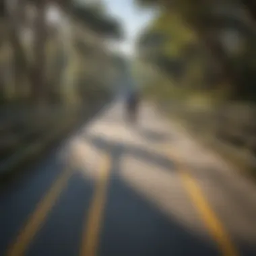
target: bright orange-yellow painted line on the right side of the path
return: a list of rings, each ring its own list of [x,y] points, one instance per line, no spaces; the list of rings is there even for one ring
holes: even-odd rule
[[[181,179],[183,185],[187,190],[187,193],[197,208],[197,212],[201,216],[207,230],[210,232],[214,241],[218,245],[220,252],[223,256],[238,256],[239,253],[232,243],[228,232],[226,232],[222,222],[216,216],[214,210],[208,203],[207,199],[203,196],[203,191],[201,191],[200,186],[197,181],[193,179],[189,171],[183,166],[177,154],[174,152],[169,152],[169,156],[176,162],[179,172],[181,173]]]

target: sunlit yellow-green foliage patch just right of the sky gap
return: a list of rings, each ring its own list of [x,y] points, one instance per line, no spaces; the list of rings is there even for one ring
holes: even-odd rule
[[[156,35],[162,35],[162,42],[154,46],[156,53],[154,63],[172,77],[180,87],[199,88],[205,70],[205,63],[203,63],[205,57],[199,55],[197,36],[187,27],[181,15],[162,11],[143,37],[148,36],[150,41],[154,40]],[[143,40],[141,47],[143,48]],[[152,51],[149,53],[152,55]]]

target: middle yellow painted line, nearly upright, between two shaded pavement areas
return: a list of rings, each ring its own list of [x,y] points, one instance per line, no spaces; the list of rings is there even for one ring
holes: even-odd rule
[[[88,219],[84,227],[84,234],[82,237],[81,256],[94,256],[98,247],[98,236],[100,234],[100,227],[106,203],[106,191],[108,187],[108,177],[110,174],[110,158],[104,155],[102,164],[100,166],[100,174],[98,182],[96,183],[96,191],[90,205],[88,212]]]

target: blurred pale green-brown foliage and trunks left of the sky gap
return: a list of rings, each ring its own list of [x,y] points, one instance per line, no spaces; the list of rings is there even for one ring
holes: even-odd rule
[[[54,1],[59,3],[59,0]],[[21,99],[28,102],[30,98],[35,98],[32,96],[35,88],[43,91],[40,98],[44,98],[45,102],[79,102],[90,98],[91,92],[94,95],[105,94],[113,78],[109,70],[114,63],[104,53],[104,44],[100,40],[106,37],[120,38],[122,31],[119,22],[106,15],[104,7],[80,6],[66,0],[61,1],[61,7],[63,15],[67,15],[69,20],[65,30],[67,33],[49,30],[49,34],[42,33],[44,36],[41,36],[40,32],[44,32],[47,26],[42,15],[45,2],[26,0],[19,3],[18,15],[2,15],[0,24],[1,102]],[[19,30],[26,15],[24,3],[33,4],[40,13],[40,20],[36,18],[35,23],[36,28],[40,29],[36,30],[34,42],[20,37]],[[0,5],[0,11],[4,12],[4,7]],[[42,49],[45,54],[42,54]],[[100,77],[99,69],[102,71]],[[41,80],[44,81],[40,83]],[[97,89],[88,84],[94,84]]]

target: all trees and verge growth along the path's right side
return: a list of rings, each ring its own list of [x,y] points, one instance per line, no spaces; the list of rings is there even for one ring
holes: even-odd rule
[[[137,40],[135,75],[145,96],[239,169],[256,174],[255,5],[136,2],[158,11]]]

